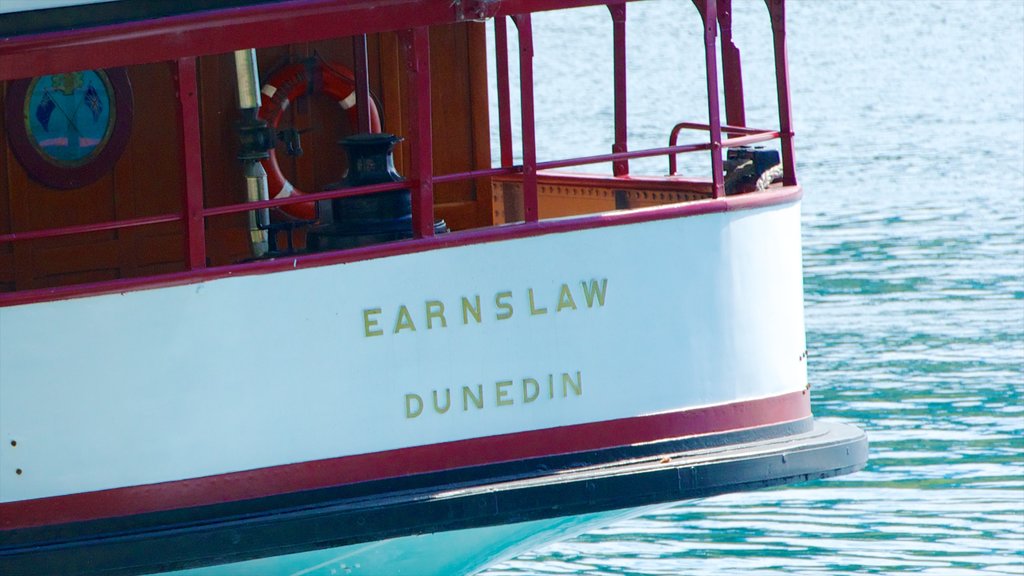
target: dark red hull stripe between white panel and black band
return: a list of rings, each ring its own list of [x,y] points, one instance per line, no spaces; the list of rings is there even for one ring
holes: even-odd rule
[[[0,504],[0,529],[127,517],[373,480],[720,434],[811,415],[806,392],[603,422],[474,438]]]

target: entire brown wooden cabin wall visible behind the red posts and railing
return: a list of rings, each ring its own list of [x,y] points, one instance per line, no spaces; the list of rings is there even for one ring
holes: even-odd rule
[[[431,29],[431,85],[436,174],[489,167],[486,63],[482,24]],[[396,35],[368,38],[371,90],[381,102],[384,131],[408,133],[404,60]],[[352,68],[350,39],[280,46],[257,51],[260,78],[280,67],[318,56]],[[53,190],[34,181],[0,138],[0,234],[137,218],[181,211],[181,143],[174,68],[170,63],[128,68],[134,120],[128,146],[114,169],[77,190]],[[0,83],[0,95],[6,94]],[[200,120],[205,204],[245,200],[238,137],[239,120],[231,54],[199,59]],[[0,133],[7,130],[0,114]],[[302,133],[305,154],[291,158],[279,147],[285,174],[300,190],[322,191],[346,169],[337,141],[353,132],[347,115],[317,95],[293,102],[285,123]],[[399,173],[408,168],[409,142],[396,149]],[[493,221],[489,182],[436,187],[435,215],[456,230]],[[249,256],[245,214],[207,220],[211,265]],[[300,242],[301,245],[301,242]],[[0,243],[0,291],[45,288],[184,270],[179,223],[146,225],[37,241]]]

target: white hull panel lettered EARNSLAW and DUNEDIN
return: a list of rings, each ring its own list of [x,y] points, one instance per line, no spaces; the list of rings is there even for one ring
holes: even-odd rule
[[[799,210],[0,308],[0,501],[801,389]],[[588,306],[581,283],[605,280],[604,304]],[[563,284],[577,310],[557,310]],[[530,314],[529,290],[546,314]],[[506,291],[513,315],[499,320]],[[477,295],[481,321],[464,323],[461,298]],[[428,328],[429,300],[445,327]],[[395,334],[401,305],[416,330]],[[384,333],[368,337],[372,308]],[[561,374],[577,372],[582,395],[563,398]],[[524,404],[527,377],[545,389]],[[477,385],[484,408],[464,406]],[[429,403],[445,388],[442,415]],[[413,394],[428,405],[410,418]]]

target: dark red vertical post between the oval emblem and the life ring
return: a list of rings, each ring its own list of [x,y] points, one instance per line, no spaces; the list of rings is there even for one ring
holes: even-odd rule
[[[189,270],[206,268],[206,230],[203,218],[203,142],[200,138],[199,86],[196,58],[175,63],[174,79],[178,91],[178,136],[181,139],[182,224],[185,262]]]

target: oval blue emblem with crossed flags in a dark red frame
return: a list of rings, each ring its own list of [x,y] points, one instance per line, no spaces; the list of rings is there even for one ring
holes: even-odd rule
[[[50,188],[81,188],[110,172],[128,143],[131,117],[124,69],[40,76],[8,90],[11,150],[33,179]]]

